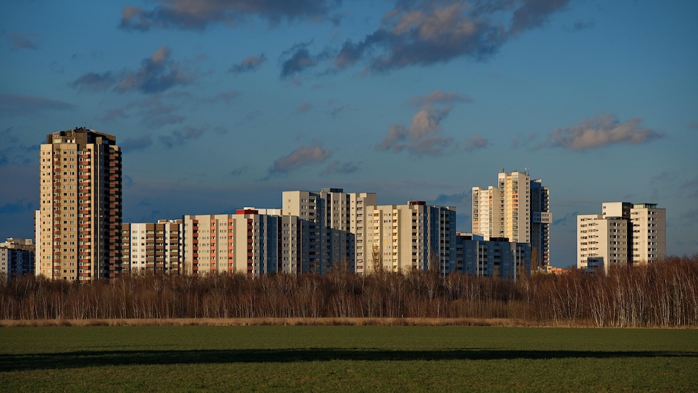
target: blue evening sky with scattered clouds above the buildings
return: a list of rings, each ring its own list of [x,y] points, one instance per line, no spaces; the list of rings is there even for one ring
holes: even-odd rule
[[[123,220],[281,207],[284,190],[456,206],[502,170],[576,216],[666,208],[698,253],[698,2],[126,0],[0,5],[0,239],[33,237],[39,144],[117,137]]]

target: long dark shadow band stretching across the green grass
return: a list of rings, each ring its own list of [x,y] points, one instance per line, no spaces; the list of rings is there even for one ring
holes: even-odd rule
[[[49,370],[93,366],[174,365],[192,363],[291,363],[304,361],[440,361],[562,358],[685,357],[695,352],[668,351],[512,351],[455,349],[391,351],[382,349],[202,349],[188,351],[74,351],[56,354],[0,355],[0,371]]]

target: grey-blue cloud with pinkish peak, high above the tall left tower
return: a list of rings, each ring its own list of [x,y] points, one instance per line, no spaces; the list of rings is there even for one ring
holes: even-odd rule
[[[105,91],[113,87],[115,92],[141,92],[154,94],[178,85],[188,85],[196,77],[185,70],[182,63],[173,61],[172,49],[160,46],[152,56],[141,61],[137,70],[103,73],[86,73],[70,85],[80,90]]]

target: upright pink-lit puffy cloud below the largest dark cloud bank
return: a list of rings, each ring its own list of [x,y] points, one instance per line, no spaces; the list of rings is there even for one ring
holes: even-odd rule
[[[388,134],[381,143],[376,146],[380,151],[392,151],[399,153],[407,150],[413,156],[438,156],[448,148],[455,147],[452,137],[441,134],[441,121],[448,116],[452,109],[452,103],[457,101],[471,101],[455,93],[447,93],[440,90],[415,96],[410,99],[410,104],[418,105],[417,113],[412,116],[408,127],[401,124],[393,124]],[[445,105],[441,108],[436,105]]]

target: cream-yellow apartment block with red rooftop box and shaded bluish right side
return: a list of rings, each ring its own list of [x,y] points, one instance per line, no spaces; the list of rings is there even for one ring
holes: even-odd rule
[[[456,268],[456,210],[424,201],[367,206],[365,242],[357,249],[356,271],[438,270]]]

